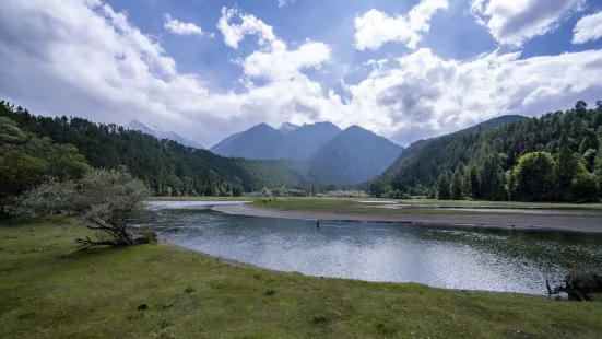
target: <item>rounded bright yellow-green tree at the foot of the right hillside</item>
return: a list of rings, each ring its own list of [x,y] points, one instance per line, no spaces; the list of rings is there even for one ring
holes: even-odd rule
[[[547,200],[554,188],[554,159],[546,152],[522,155],[512,172],[522,200]]]

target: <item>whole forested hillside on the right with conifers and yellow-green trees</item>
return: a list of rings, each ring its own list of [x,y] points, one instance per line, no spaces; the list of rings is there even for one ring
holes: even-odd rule
[[[598,201],[601,126],[602,103],[588,109],[580,101],[565,113],[416,142],[371,190],[439,199]]]

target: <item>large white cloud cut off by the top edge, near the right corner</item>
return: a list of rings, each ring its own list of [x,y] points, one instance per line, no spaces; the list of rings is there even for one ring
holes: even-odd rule
[[[520,47],[583,10],[586,0],[472,0],[476,22],[500,45]]]

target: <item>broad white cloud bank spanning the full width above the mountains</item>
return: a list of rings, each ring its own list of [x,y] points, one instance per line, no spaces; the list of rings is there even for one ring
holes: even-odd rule
[[[201,75],[178,70],[160,42],[101,1],[2,4],[3,100],[36,114],[118,124],[135,118],[206,145],[259,122],[285,120],[359,125],[408,143],[503,114],[570,107],[578,98],[599,98],[602,91],[600,49],[526,59],[493,51],[459,61],[421,48],[367,61],[367,75],[335,92],[307,71],[335,66],[328,45],[293,46],[255,16],[225,10],[243,21],[228,27],[263,43],[236,61],[244,91],[222,92]],[[246,20],[262,28],[243,28]]]

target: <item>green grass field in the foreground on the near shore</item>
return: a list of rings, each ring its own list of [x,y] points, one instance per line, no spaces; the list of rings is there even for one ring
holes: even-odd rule
[[[602,337],[601,303],[311,278],[161,245],[63,257],[86,232],[0,226],[0,338]]]

